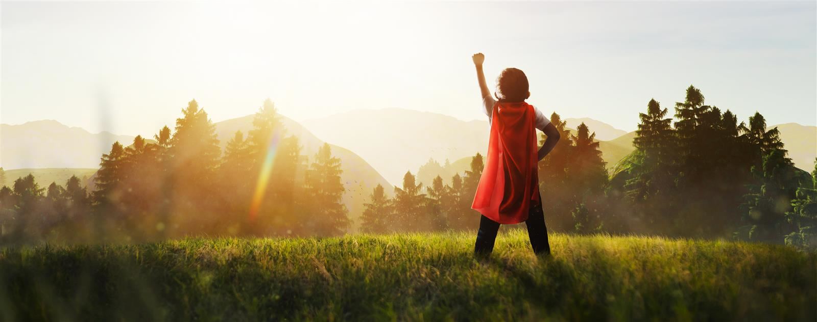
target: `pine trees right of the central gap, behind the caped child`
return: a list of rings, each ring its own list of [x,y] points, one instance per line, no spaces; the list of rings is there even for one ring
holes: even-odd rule
[[[739,123],[728,109],[704,104],[694,86],[674,109],[667,117],[651,99],[639,114],[635,151],[610,171],[595,134],[583,123],[567,129],[554,112],[551,123],[567,139],[538,164],[549,229],[817,245],[817,165],[811,174],[797,169],[761,113]],[[471,201],[482,167],[478,153],[450,185],[438,176],[423,189],[408,172],[394,197],[375,187],[362,230],[475,228]]]

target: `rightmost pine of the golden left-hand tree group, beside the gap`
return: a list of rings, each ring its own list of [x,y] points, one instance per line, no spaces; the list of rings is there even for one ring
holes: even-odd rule
[[[310,211],[302,221],[309,232],[337,236],[349,227],[348,211],[343,204],[346,188],[341,183],[342,172],[341,159],[332,157],[332,149],[324,143],[306,173],[306,202]]]

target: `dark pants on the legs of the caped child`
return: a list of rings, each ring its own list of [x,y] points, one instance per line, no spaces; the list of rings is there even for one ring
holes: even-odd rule
[[[528,237],[530,245],[534,247],[534,254],[551,254],[551,245],[547,242],[547,227],[545,227],[545,215],[542,213],[542,205],[531,205],[528,220]],[[499,223],[482,216],[480,218],[480,230],[476,232],[476,244],[474,253],[487,255],[493,252],[493,242],[497,240]]]

